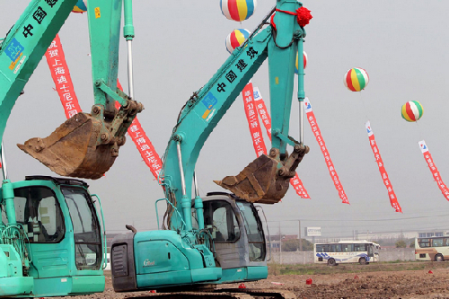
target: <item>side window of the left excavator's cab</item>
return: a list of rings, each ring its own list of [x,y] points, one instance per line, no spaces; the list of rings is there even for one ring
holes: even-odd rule
[[[15,217],[31,243],[55,243],[64,238],[64,216],[55,193],[42,186],[14,189]],[[7,223],[2,213],[2,221]]]

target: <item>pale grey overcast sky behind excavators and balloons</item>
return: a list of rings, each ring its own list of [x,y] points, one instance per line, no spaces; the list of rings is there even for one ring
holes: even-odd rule
[[[28,4],[0,0],[0,36],[4,37]],[[145,105],[138,119],[162,155],[178,113],[190,95],[215,74],[229,56],[226,36],[237,28],[253,31],[275,0],[259,0],[256,12],[242,23],[221,13],[219,0],[135,1],[133,42],[135,98]],[[359,232],[448,230],[449,202],[433,180],[418,141],[425,140],[445,182],[449,182],[447,110],[449,56],[447,11],[449,2],[428,0],[304,1],[313,19],[305,27],[308,55],[304,90],[310,99],[350,205],[341,203],[330,179],[319,145],[307,122],[304,144],[311,150],[297,172],[311,199],[289,189],[281,203],[265,205],[270,233],[298,233],[320,226],[323,236],[352,236]],[[66,62],[82,109],[93,104],[87,15],[72,13],[59,32]],[[119,79],[128,90],[126,43],[120,46]],[[343,84],[348,69],[362,67],[370,81],[362,92]],[[269,106],[268,63],[252,78]],[[55,175],[17,146],[36,136],[48,136],[65,119],[53,90],[45,58],[15,106],[4,146],[11,180],[26,175]],[[294,92],[295,98],[295,92]],[[401,118],[401,106],[420,101],[424,115],[418,123]],[[290,135],[298,138],[298,102],[293,101]],[[383,163],[403,213],[391,207],[365,131],[371,121]],[[269,148],[269,138],[265,136]],[[291,151],[291,148],[290,148]],[[235,175],[255,158],[242,96],[208,138],[198,158],[202,196],[221,190],[213,180]],[[155,200],[161,187],[143,162],[130,138],[119,157],[100,180],[86,180],[101,198],[109,233],[156,229]],[[159,215],[164,207],[160,204]]]

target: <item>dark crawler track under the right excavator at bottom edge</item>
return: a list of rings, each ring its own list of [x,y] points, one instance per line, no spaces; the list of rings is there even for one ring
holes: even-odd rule
[[[142,295],[134,298],[163,298],[163,299],[296,299],[296,295],[291,291],[259,288],[224,288],[213,292],[177,292],[177,293],[155,293]]]

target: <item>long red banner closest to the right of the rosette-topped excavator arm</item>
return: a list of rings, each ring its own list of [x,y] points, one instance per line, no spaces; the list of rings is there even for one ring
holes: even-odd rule
[[[315,114],[313,113],[312,106],[310,104],[309,99],[304,99],[304,105],[305,105],[305,114],[307,116],[307,120],[309,120],[310,127],[312,128],[312,133],[316,138],[316,142],[318,142],[318,145],[320,145],[321,153],[324,156],[324,160],[326,162],[326,166],[328,167],[330,178],[332,178],[332,181],[334,182],[335,189],[339,191],[339,198],[341,198],[341,202],[343,204],[349,204],[348,197],[346,196],[345,190],[343,189],[343,186],[341,185],[341,182],[339,181],[339,175],[337,174],[337,171],[335,170],[334,164],[332,163],[332,160],[330,159],[330,154],[328,152],[328,149],[326,147],[326,143],[324,142],[324,139],[321,136],[320,128],[318,127],[318,123],[315,118]]]

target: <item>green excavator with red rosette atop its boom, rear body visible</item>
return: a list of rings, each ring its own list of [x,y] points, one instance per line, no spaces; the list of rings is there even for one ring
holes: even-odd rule
[[[303,53],[304,21],[308,22],[301,18],[304,14],[311,18],[308,12],[296,0],[277,0],[257,30],[186,102],[163,155],[160,179],[165,198],[158,201],[168,207],[165,229],[134,230],[114,238],[110,256],[116,291],[173,291],[268,276],[266,237],[254,204],[275,204],[283,198],[298,163],[309,151],[302,135],[295,140],[288,134],[295,59],[298,51]],[[216,180],[230,192],[212,192],[201,198],[194,187],[201,148],[267,58],[272,119],[269,154],[260,155],[237,175]],[[303,63],[303,55],[299,55],[300,128],[304,112]],[[292,146],[291,153],[287,145]],[[238,146],[226,145],[234,151]],[[216,163],[226,159],[232,157],[217,154]]]

